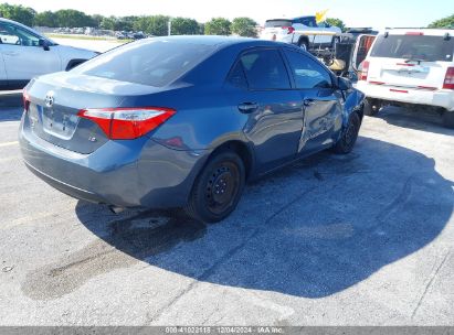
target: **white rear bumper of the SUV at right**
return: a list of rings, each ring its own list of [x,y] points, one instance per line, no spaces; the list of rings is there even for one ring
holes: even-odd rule
[[[443,107],[451,111],[454,110],[454,90],[411,89],[388,85],[373,85],[363,80],[358,82],[357,89],[361,90],[368,98],[404,104],[427,105]]]

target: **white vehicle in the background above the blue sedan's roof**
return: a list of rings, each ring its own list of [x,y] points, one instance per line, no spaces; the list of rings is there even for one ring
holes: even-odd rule
[[[298,45],[305,50],[332,48],[339,41],[341,30],[326,22],[317,24],[315,17],[273,19],[265,22],[261,39]]]

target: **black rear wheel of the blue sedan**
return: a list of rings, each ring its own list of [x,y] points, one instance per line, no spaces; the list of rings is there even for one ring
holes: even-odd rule
[[[236,208],[244,184],[245,168],[241,158],[232,151],[221,151],[196,179],[184,210],[200,221],[223,220]]]

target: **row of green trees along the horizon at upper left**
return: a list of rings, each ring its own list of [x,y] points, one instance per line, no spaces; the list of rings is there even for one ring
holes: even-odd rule
[[[74,9],[36,12],[34,9],[21,4],[0,4],[0,17],[21,22],[29,26],[49,28],[80,28],[115,31],[142,31],[144,33],[163,36],[168,34],[168,22],[171,20],[171,32],[175,35],[230,35],[256,37],[257,23],[250,18],[236,18],[230,21],[224,18],[214,18],[207,23],[200,23],[190,18],[170,18],[167,15],[142,17],[104,17],[87,15]]]

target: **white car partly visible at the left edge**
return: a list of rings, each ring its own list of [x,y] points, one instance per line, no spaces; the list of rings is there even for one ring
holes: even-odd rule
[[[0,19],[0,89],[22,88],[34,76],[70,69],[97,54],[59,45],[21,23]]]

